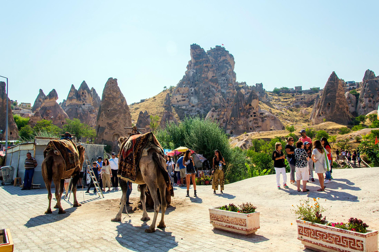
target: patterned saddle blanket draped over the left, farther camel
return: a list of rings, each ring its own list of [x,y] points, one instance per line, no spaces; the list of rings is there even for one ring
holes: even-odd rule
[[[79,153],[72,140],[51,140],[43,151],[43,157],[46,158],[46,155],[50,151],[58,151],[60,153],[65,161],[65,171],[75,169],[76,167],[79,169],[81,168],[79,163]]]

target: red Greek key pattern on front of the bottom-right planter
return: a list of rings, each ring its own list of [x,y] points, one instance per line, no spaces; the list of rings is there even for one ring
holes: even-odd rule
[[[344,248],[349,248],[357,251],[363,251],[363,241],[356,240],[351,237],[341,236],[337,234],[331,234],[323,232],[318,229],[312,229],[304,226],[298,226],[298,232],[300,235],[309,237],[311,239],[335,244]],[[321,244],[318,244],[322,246]]]

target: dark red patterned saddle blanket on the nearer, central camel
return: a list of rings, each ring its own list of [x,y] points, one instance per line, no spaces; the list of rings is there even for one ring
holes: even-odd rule
[[[163,148],[152,132],[131,135],[122,144],[118,153],[117,175],[136,181],[141,157],[147,156],[150,148],[155,148],[164,155]]]

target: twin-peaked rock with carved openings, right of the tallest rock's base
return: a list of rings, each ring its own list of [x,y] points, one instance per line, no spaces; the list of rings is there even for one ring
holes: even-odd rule
[[[235,97],[230,118],[227,120],[228,134],[240,135],[244,132],[284,129],[275,115],[261,110],[258,95],[254,90],[246,95],[249,95],[247,99],[240,90]]]

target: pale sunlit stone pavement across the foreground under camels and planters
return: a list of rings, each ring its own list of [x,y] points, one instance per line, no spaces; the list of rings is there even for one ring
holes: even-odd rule
[[[85,194],[81,207],[44,215],[47,208],[46,189],[23,190],[0,187],[0,228],[10,228],[15,251],[309,251],[297,239],[293,204],[306,197],[326,199],[328,220],[362,219],[370,229],[379,229],[379,168],[333,170],[334,182],[325,192],[317,192],[316,183],[308,183],[310,193],[276,189],[275,175],[256,177],[225,186],[224,194],[213,195],[210,186],[198,186],[198,197],[186,198],[186,189],[175,187],[172,205],[166,211],[164,230],[145,233],[152,221],[140,221],[141,211],[122,222],[110,221],[117,213],[120,191],[105,193],[105,198]],[[289,174],[287,176],[289,178]],[[131,201],[139,192],[133,187]],[[219,192],[219,191],[218,191]],[[83,201],[81,191],[78,201]],[[112,201],[113,200],[113,201]],[[72,201],[72,198],[71,200]],[[113,203],[112,203],[113,202]],[[213,229],[209,223],[209,207],[227,203],[252,202],[261,213],[261,228],[255,235],[241,236]],[[112,204],[113,205],[112,205]],[[52,201],[52,205],[55,200]],[[149,211],[150,218],[153,213]],[[160,220],[158,215],[157,223]],[[293,225],[291,223],[294,223]]]

